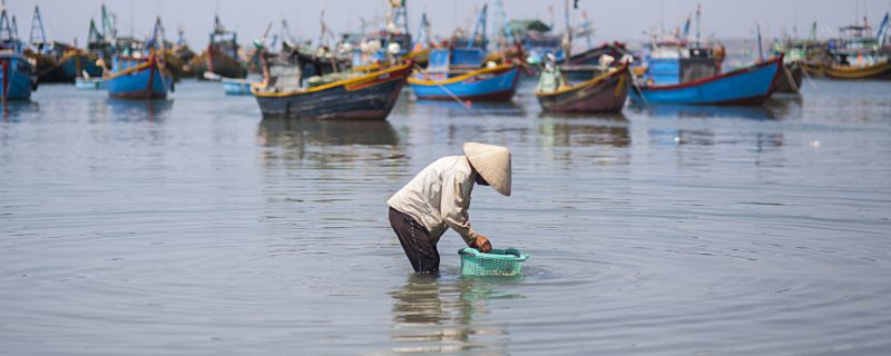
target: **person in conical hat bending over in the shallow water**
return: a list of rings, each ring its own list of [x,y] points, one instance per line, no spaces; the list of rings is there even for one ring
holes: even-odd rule
[[[437,243],[449,228],[470,247],[483,253],[492,249],[489,238],[474,231],[468,221],[474,182],[510,196],[507,147],[467,142],[464,156],[438,159],[386,200],[390,225],[414,271],[439,270]]]

